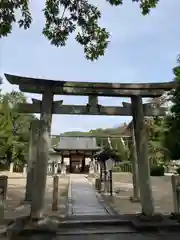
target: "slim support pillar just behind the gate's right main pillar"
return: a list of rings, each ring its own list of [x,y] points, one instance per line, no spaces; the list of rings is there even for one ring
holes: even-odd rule
[[[136,140],[134,135],[134,126],[131,127],[132,143],[132,181],[133,181],[133,196],[131,196],[132,202],[139,202],[139,180],[138,180],[138,164],[137,164],[137,151],[136,151]]]

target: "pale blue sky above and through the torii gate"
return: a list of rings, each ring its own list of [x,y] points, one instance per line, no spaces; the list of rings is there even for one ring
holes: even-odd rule
[[[92,2],[92,0],[91,0]],[[179,53],[179,0],[161,0],[151,14],[141,16],[130,0],[118,8],[105,0],[95,1],[102,11],[101,24],[109,30],[111,42],[98,61],[84,58],[83,49],[70,38],[65,48],[56,48],[41,34],[44,1],[32,1],[33,24],[28,31],[14,26],[0,42],[0,74],[68,81],[158,82],[171,81]],[[3,90],[18,89],[3,79]],[[35,95],[27,94],[27,97]],[[41,96],[37,95],[37,98]],[[57,96],[65,104],[85,104],[87,97]],[[100,98],[100,104],[120,105],[121,98]],[[52,133],[106,128],[128,121],[128,117],[54,115]]]

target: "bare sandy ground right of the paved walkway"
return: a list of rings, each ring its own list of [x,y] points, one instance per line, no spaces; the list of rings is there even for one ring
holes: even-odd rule
[[[155,210],[157,213],[173,212],[171,177],[151,177]],[[116,196],[105,199],[120,214],[140,213],[140,203],[132,203],[129,197],[133,193],[132,175],[130,173],[113,173],[113,189]]]

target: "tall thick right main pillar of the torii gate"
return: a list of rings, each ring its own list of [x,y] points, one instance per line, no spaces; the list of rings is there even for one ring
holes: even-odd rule
[[[148,161],[148,140],[144,124],[144,113],[142,98],[131,97],[134,133],[136,139],[139,187],[142,213],[146,216],[154,215],[154,201],[152,197],[152,186],[150,180],[150,168]]]

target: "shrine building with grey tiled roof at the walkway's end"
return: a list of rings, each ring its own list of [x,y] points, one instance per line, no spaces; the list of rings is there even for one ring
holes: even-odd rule
[[[49,152],[48,173],[61,172],[62,165],[69,173],[88,173],[93,155],[100,150],[95,137],[60,136]]]

